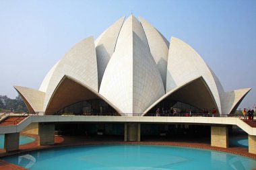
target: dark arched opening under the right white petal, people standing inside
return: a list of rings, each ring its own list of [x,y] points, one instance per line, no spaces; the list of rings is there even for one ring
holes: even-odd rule
[[[207,114],[207,111],[212,112],[214,108],[219,114],[212,92],[207,87],[203,77],[198,77],[166,93],[144,115],[156,116],[157,112],[160,114],[159,116],[173,113],[190,114],[190,110],[193,114],[204,114],[203,109]]]

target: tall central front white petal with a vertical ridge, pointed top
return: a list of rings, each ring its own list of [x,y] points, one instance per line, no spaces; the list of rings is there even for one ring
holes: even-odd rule
[[[164,95],[162,78],[150,54],[146,35],[133,15],[123,24],[100,94],[125,114],[142,114]]]

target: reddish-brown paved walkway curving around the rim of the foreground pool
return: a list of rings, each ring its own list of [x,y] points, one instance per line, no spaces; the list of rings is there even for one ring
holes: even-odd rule
[[[24,134],[23,134],[24,135]],[[15,155],[18,153],[26,153],[35,150],[41,150],[46,148],[55,148],[55,147],[65,147],[65,146],[78,146],[78,145],[88,145],[88,144],[158,144],[158,145],[171,145],[171,146],[185,146],[185,147],[193,147],[193,148],[204,148],[210,149],[214,151],[222,151],[227,153],[233,153],[236,155],[241,155],[245,157],[250,157],[256,159],[256,155],[248,153],[248,148],[242,147],[234,147],[230,148],[218,148],[214,146],[210,146],[209,139],[202,140],[186,140],[183,138],[170,139],[168,138],[145,138],[141,142],[123,142],[123,137],[117,136],[55,136],[55,144],[49,146],[38,146],[38,135],[26,134],[27,136],[33,136],[36,138],[34,142],[29,144],[23,144],[20,146],[19,151],[14,151],[10,153],[5,153],[3,149],[0,149],[0,158],[8,155]],[[160,141],[161,140],[161,141]],[[186,142],[185,142],[186,141]],[[7,163],[0,159],[0,170],[2,169],[22,169],[22,167],[18,167],[17,165],[13,165],[11,163]],[[256,169],[256,167],[255,167]]]

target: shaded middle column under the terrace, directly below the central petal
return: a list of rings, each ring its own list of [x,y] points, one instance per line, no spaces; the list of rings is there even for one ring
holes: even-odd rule
[[[125,123],[125,142],[139,142],[140,141],[140,124]]]

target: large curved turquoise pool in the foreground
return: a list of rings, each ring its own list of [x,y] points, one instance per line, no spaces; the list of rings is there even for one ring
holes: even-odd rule
[[[153,145],[100,145],[57,148],[5,157],[35,169],[254,169],[256,160],[193,148]]]

